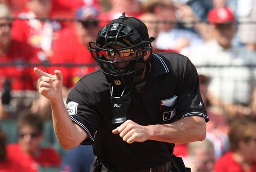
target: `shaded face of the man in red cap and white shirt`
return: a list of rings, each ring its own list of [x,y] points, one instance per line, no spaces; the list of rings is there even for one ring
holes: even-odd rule
[[[225,49],[230,48],[231,42],[236,32],[236,26],[232,24],[220,24],[214,29],[214,38]]]

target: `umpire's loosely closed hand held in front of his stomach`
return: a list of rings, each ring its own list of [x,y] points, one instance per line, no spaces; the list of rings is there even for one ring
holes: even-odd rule
[[[123,141],[127,143],[143,142],[148,140],[147,126],[139,125],[132,120],[127,120],[112,131],[113,134],[119,134]]]

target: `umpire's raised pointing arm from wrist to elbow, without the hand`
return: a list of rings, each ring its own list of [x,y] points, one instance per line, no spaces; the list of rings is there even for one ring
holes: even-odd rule
[[[51,101],[51,106],[54,132],[63,148],[76,147],[87,138],[86,132],[72,122],[62,99]]]

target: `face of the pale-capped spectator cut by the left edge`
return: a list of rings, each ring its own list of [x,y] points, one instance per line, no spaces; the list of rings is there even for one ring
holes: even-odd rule
[[[6,45],[11,41],[11,21],[0,19],[0,45]]]

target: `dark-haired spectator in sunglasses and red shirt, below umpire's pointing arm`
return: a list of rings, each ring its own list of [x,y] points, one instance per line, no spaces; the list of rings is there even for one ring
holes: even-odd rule
[[[55,149],[40,147],[44,123],[38,114],[24,111],[17,118],[18,142],[7,146],[8,157],[28,171],[42,167],[58,167],[60,156]]]

